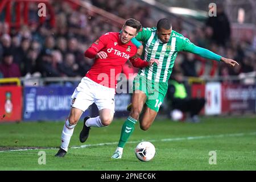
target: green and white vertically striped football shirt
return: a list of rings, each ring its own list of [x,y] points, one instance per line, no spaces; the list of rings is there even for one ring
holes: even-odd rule
[[[195,45],[183,35],[172,30],[168,43],[162,43],[156,34],[156,27],[143,28],[138,33],[136,39],[143,43],[142,59],[158,59],[159,65],[153,64],[151,67],[141,68],[138,72],[141,76],[146,76],[152,82],[167,82],[174,67],[174,61],[179,51],[192,52]]]

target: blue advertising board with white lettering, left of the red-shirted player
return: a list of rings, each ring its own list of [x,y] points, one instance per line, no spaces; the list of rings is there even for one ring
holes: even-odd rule
[[[24,87],[24,121],[63,121],[71,110],[71,96],[75,87],[31,86]],[[81,119],[89,115],[86,110]]]

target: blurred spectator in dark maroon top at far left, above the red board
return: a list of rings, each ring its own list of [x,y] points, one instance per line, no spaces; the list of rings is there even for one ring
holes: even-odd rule
[[[19,66],[13,63],[13,55],[10,49],[3,53],[3,61],[0,64],[0,72],[4,78],[20,77]]]

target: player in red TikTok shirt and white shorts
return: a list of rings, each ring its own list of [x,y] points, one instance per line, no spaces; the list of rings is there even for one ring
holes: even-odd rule
[[[74,127],[82,113],[93,103],[97,105],[100,115],[95,118],[84,118],[80,142],[85,142],[88,138],[90,127],[110,125],[114,116],[117,79],[122,71],[122,65],[127,60],[138,68],[158,64],[156,59],[143,61],[135,56],[137,47],[131,39],[138,34],[141,28],[139,21],[127,19],[121,32],[107,32],[85,51],[85,56],[90,59],[95,58],[95,61],[72,94],[71,113],[63,127],[61,146],[55,156],[65,156]]]

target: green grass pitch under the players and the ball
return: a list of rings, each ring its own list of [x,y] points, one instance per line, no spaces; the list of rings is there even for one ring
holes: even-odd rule
[[[0,170],[255,170],[256,119],[250,117],[205,117],[200,123],[156,119],[150,130],[136,129],[124,148],[122,159],[111,159],[124,119],[109,127],[92,128],[85,143],[79,142],[82,128],[75,127],[65,158],[55,158],[63,122],[21,122],[0,124]],[[234,135],[229,135],[234,134]],[[238,134],[238,135],[237,135]],[[201,138],[187,138],[200,137]],[[206,137],[210,136],[210,137]],[[161,139],[167,139],[163,141]],[[169,139],[169,140],[168,140]],[[134,154],[139,140],[149,140],[156,148],[150,162],[140,162]],[[98,143],[110,143],[97,146]],[[39,150],[8,151],[26,147]],[[45,147],[54,147],[49,149]],[[56,147],[56,148],[55,148]],[[46,164],[39,165],[39,151],[46,152]],[[217,164],[209,164],[209,151],[216,151]]]

